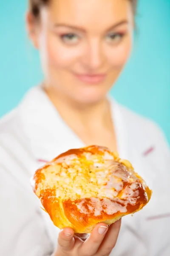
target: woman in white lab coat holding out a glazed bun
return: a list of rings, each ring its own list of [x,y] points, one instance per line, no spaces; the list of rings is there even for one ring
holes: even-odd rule
[[[0,122],[0,255],[170,255],[169,148],[155,124],[107,97],[130,55],[135,9],[135,0],[29,1],[44,82]],[[93,144],[119,151],[153,189],[122,219],[117,244],[120,221],[96,225],[84,242],[70,228],[59,233],[30,187],[42,162]]]

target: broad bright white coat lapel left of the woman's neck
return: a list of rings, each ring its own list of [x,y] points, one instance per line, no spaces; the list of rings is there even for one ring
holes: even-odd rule
[[[19,107],[23,129],[31,143],[34,155],[51,160],[69,145],[83,146],[59,116],[41,86],[32,88]]]

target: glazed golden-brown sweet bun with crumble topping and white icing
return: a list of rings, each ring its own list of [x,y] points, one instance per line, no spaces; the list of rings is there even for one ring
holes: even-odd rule
[[[152,193],[129,161],[99,146],[60,154],[32,181],[54,225],[75,233],[90,233],[99,222],[110,225],[139,211]]]

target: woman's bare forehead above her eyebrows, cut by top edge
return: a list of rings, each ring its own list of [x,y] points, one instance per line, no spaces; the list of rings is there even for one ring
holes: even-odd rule
[[[132,16],[130,0],[51,0],[47,13],[52,23],[84,28],[111,26]]]

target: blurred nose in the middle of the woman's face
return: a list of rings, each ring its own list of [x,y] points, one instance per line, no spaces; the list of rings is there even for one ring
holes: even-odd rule
[[[88,71],[101,70],[104,65],[104,52],[102,44],[98,40],[88,42],[82,56],[82,65]]]

